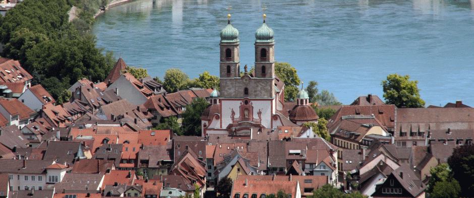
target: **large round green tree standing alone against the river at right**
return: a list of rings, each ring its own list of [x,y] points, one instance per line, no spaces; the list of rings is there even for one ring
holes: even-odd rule
[[[391,74],[386,81],[382,81],[383,97],[386,104],[394,104],[396,107],[421,108],[425,101],[420,98],[418,81],[409,81],[410,76]]]

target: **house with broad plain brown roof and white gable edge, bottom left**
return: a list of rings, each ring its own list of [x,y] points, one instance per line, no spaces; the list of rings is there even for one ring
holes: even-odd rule
[[[66,173],[63,180],[54,184],[57,191],[89,191],[98,192],[104,182],[103,174]]]

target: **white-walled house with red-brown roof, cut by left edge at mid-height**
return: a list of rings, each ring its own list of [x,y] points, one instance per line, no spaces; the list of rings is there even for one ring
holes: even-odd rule
[[[18,99],[3,99],[0,101],[0,113],[7,118],[9,125],[22,128],[33,120],[35,112],[21,103]]]

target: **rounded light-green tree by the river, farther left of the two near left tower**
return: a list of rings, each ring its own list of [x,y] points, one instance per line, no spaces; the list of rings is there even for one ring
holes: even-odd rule
[[[176,68],[166,70],[163,79],[163,87],[169,93],[176,92],[178,89],[183,90],[189,83],[188,75]]]

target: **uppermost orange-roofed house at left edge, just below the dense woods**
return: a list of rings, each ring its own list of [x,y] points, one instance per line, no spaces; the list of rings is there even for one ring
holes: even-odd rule
[[[0,58],[0,69],[0,82],[25,83],[31,87],[33,76],[21,67],[18,60]]]

